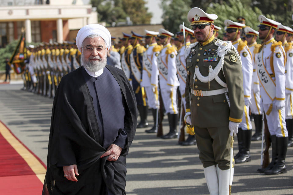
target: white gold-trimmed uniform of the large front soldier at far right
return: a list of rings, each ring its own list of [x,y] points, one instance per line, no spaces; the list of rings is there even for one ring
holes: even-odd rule
[[[266,67],[268,74],[275,83],[276,98],[275,100],[272,100],[267,94],[268,89],[265,89],[263,86],[260,87],[260,94],[262,96],[264,112],[266,113],[269,133],[271,135],[276,135],[277,137],[288,137],[285,123],[285,108],[277,110],[275,106],[271,106],[274,105],[276,101],[285,100],[284,83],[286,81],[284,48],[281,45],[278,45],[276,46],[275,51],[272,51],[271,48],[273,43],[276,43],[274,38],[267,41],[261,48],[259,56],[262,57],[263,65]],[[271,58],[273,58],[273,64],[270,63]]]

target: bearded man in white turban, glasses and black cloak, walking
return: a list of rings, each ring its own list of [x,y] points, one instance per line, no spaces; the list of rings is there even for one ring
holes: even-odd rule
[[[55,94],[43,194],[125,194],[134,92],[122,70],[106,65],[105,27],[82,27],[76,45],[82,66],[63,76]]]

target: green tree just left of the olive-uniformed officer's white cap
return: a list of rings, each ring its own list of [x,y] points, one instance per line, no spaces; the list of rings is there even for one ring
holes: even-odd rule
[[[186,27],[190,22],[187,20],[187,13],[190,10],[190,0],[168,0],[162,1],[163,21],[164,28],[172,33],[179,31],[179,25],[184,22]]]

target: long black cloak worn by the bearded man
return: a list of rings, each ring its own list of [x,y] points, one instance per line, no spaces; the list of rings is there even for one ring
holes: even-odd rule
[[[127,141],[117,161],[100,158],[107,148],[100,144],[98,124],[83,67],[63,76],[53,101],[49,135],[47,172],[42,194],[125,194],[126,154],[134,138],[137,106],[134,92],[124,72],[106,66],[117,80],[125,102],[124,129]],[[109,89],[110,90],[110,89]],[[64,177],[63,167],[78,167],[78,182]],[[95,184],[93,184],[95,183]],[[102,184],[101,184],[102,183]]]

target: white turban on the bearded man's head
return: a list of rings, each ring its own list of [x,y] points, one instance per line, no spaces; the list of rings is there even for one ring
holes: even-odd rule
[[[97,34],[102,37],[108,48],[111,47],[111,34],[106,27],[99,24],[89,24],[82,27],[76,35],[76,46],[81,52],[81,44],[89,35]]]

